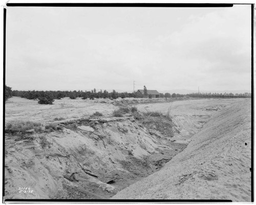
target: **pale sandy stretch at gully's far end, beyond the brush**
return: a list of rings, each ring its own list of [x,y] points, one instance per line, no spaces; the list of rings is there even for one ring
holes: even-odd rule
[[[162,104],[140,104],[137,107],[141,112],[156,111],[163,114],[167,114],[170,108],[169,116],[178,130],[173,139],[190,141],[189,138],[202,129],[212,114],[238,101],[244,99],[193,99]]]

